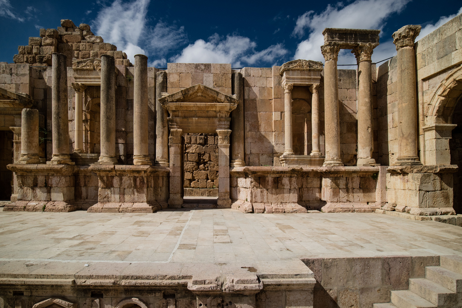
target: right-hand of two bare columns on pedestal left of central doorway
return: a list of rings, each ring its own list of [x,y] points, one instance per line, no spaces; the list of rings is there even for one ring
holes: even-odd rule
[[[134,165],[152,165],[148,151],[147,103],[147,57],[144,54],[136,54],[133,92]]]

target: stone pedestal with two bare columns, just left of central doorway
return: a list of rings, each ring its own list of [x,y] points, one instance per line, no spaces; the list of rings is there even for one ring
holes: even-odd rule
[[[167,208],[168,173],[165,167],[92,165],[98,176],[98,203],[88,212],[153,213]]]

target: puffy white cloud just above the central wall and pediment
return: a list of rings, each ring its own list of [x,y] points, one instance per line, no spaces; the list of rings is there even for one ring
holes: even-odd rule
[[[255,51],[256,46],[255,42],[245,36],[233,34],[224,38],[215,33],[208,38],[208,42],[199,39],[194,44],[189,44],[172,60],[181,63],[231,63],[233,66],[242,66],[241,61],[250,65],[259,61],[272,62],[287,53],[282,44],[272,45],[261,51]]]

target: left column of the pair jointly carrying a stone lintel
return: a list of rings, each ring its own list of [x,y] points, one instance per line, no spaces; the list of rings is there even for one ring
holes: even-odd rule
[[[339,78],[337,56],[340,46],[328,43],[321,46],[324,56],[324,127],[326,159],[323,166],[343,166],[340,159]]]

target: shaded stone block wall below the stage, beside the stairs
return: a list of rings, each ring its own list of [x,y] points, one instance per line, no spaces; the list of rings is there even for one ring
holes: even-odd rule
[[[313,308],[372,308],[390,302],[391,290],[407,290],[409,278],[424,278],[439,256],[301,259],[315,274]]]

